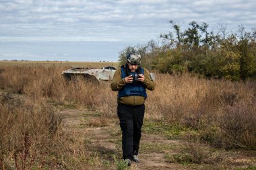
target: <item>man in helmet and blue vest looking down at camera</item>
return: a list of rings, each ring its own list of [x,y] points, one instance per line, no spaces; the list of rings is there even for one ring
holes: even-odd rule
[[[154,90],[150,72],[140,67],[141,55],[131,52],[127,63],[115,72],[111,89],[119,91],[117,115],[122,130],[123,159],[127,165],[139,162],[139,141],[145,112],[146,89]]]

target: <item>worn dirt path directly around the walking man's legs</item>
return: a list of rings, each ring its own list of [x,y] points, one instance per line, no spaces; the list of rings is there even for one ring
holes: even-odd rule
[[[121,130],[117,118],[106,119],[82,110],[62,110],[61,114],[64,115],[67,130],[78,132],[79,136],[86,138],[90,147],[100,153],[102,161],[113,161],[113,155],[117,159],[121,158]],[[102,126],[102,122],[106,126]],[[174,165],[166,163],[164,157],[168,153],[176,153],[179,145],[177,140],[166,140],[156,134],[143,134],[139,154],[141,162],[133,163],[131,169],[173,169]]]

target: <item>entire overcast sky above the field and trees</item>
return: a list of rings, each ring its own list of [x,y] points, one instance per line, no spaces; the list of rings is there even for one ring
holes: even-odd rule
[[[256,28],[255,0],[0,0],[0,60],[118,60],[168,21]]]

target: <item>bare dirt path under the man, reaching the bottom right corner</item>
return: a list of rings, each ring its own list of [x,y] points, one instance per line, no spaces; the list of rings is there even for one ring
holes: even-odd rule
[[[84,138],[90,150],[98,153],[100,161],[114,163],[113,155],[117,160],[121,159],[121,130],[118,118],[104,118],[100,114],[84,110],[62,110],[61,114],[64,116],[65,128],[77,133],[77,137]],[[225,159],[218,165],[170,163],[166,157],[181,153],[183,144],[184,141],[181,140],[168,140],[160,134],[143,132],[139,153],[141,162],[133,163],[130,169],[229,169],[248,163],[256,165],[255,152],[242,158],[241,155],[245,153],[232,153],[231,156],[225,154]]]

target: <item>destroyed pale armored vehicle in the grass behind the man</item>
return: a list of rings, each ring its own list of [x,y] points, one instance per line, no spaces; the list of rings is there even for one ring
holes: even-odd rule
[[[63,71],[62,75],[66,80],[71,80],[76,77],[83,77],[86,80],[92,81],[111,81],[117,69],[113,66],[102,67],[101,69],[88,67],[72,67]],[[150,73],[152,79],[155,79],[154,73]]]

